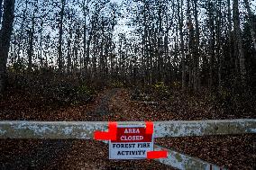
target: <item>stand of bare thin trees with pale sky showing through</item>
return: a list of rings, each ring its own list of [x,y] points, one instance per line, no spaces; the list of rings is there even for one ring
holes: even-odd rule
[[[193,91],[256,86],[255,4],[248,0],[20,0],[10,8],[1,10],[1,43],[11,36],[9,72]]]

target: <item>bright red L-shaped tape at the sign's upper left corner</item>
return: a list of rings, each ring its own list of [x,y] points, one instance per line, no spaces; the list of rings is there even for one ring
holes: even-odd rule
[[[108,131],[95,131],[94,139],[96,140],[115,140],[117,131],[117,122],[110,121],[108,123]]]

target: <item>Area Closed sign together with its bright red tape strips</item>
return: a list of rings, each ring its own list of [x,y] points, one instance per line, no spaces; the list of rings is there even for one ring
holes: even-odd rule
[[[153,150],[154,125],[151,121],[143,125],[119,125],[108,122],[108,131],[95,131],[94,139],[109,140],[110,159],[154,159],[166,158],[166,150]]]

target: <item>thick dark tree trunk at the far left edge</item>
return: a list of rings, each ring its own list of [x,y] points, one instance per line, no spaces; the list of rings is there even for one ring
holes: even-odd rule
[[[5,0],[3,24],[0,30],[0,93],[3,93],[6,81],[6,64],[13,31],[15,0]]]

